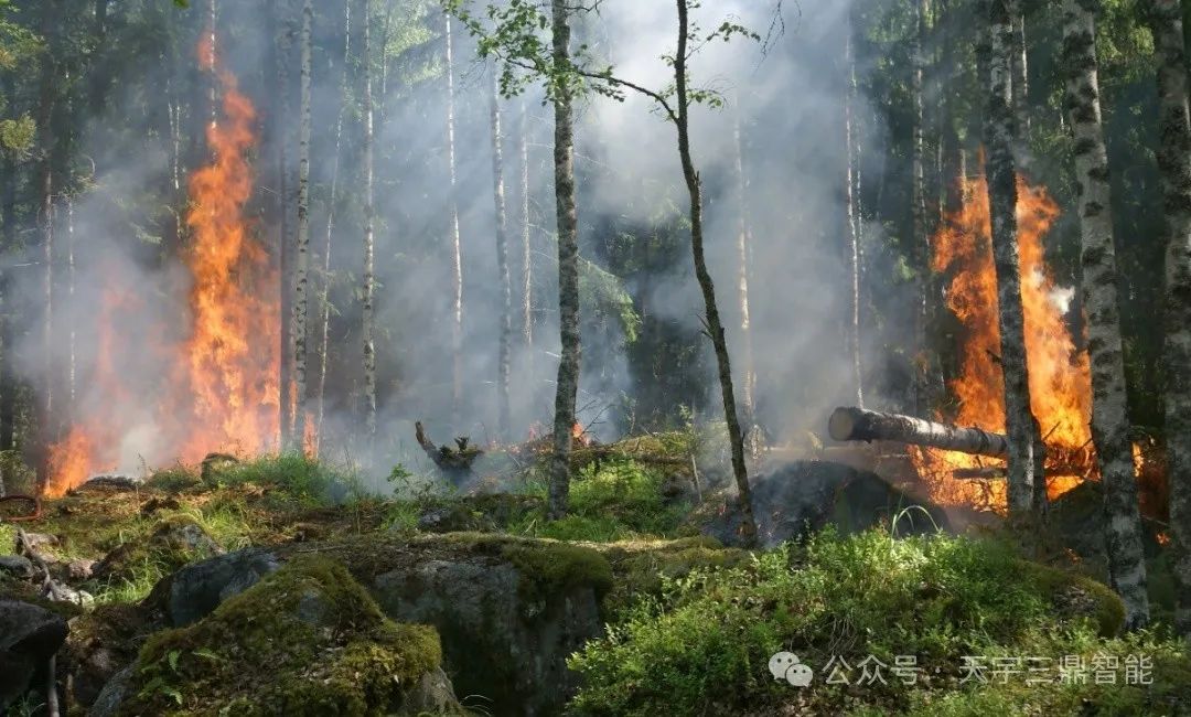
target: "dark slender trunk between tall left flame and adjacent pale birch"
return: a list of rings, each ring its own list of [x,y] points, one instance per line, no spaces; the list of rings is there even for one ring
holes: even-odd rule
[[[213,5],[212,5],[213,7]],[[281,423],[281,447],[288,449],[293,444],[294,411],[293,411],[293,247],[291,243],[289,229],[289,119],[293,117],[293,107],[289,98],[289,55],[293,43],[293,27],[289,18],[289,1],[276,0],[274,12],[278,13],[280,37],[276,45],[276,70],[278,70],[278,108],[280,116],[273,119],[276,127],[278,143],[278,225],[279,225],[279,261],[281,268],[281,366],[280,366],[280,423]],[[213,12],[213,11],[212,11]],[[213,33],[212,33],[213,36]],[[212,43],[214,40],[212,39]],[[212,95],[213,98],[214,95]],[[214,121],[214,120],[212,120]]]

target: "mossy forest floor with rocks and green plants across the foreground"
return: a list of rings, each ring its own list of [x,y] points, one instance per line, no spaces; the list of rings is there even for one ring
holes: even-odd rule
[[[681,450],[588,456],[560,522],[532,455],[499,491],[398,469],[399,498],[300,456],[83,486],[0,522],[0,553],[36,536],[0,601],[69,621],[75,715],[1191,713],[1189,646],[1122,635],[1078,565],[888,525],[724,547],[730,499],[660,460]],[[81,605],[42,597],[40,561]]]

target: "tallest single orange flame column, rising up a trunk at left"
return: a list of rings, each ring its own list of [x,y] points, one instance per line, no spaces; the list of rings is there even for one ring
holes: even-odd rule
[[[208,43],[201,43],[200,58],[213,63]],[[186,257],[194,325],[182,364],[195,430],[177,451],[183,461],[200,460],[213,447],[255,453],[278,431],[279,278],[244,219],[256,111],[231,73],[216,71],[225,121],[207,127],[213,160],[191,176],[186,216],[194,237]]]

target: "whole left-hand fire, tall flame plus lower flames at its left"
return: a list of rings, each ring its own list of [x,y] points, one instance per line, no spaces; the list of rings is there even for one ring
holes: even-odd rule
[[[199,45],[199,61],[218,79],[223,117],[207,127],[211,161],[189,180],[191,243],[183,258],[192,285],[188,316],[181,319],[189,335],[149,349],[172,368],[160,376],[162,399],[150,420],[157,455],[142,459],[198,462],[212,450],[256,453],[275,443],[279,428],[274,297],[280,278],[244,217],[252,194],[245,157],[256,142],[256,111],[236,77],[217,66],[210,38]],[[121,381],[126,372],[116,367],[118,350],[135,343],[121,333],[127,322],[120,319],[137,300],[124,289],[104,292],[95,366],[87,381],[108,410],[85,411],[51,447],[45,495],[61,495],[96,472],[119,469],[125,460],[120,441],[135,426],[121,425],[125,412],[113,407],[126,405],[132,392]]]

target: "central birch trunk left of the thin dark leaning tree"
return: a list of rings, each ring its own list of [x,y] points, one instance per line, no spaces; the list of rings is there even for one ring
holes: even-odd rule
[[[566,0],[551,0],[553,61],[570,66],[570,25]],[[559,226],[559,332],[562,343],[554,394],[554,455],[550,459],[549,517],[567,515],[570,444],[579,393],[579,214],[575,208],[574,95],[566,81],[550,88],[554,102],[554,198]]]

